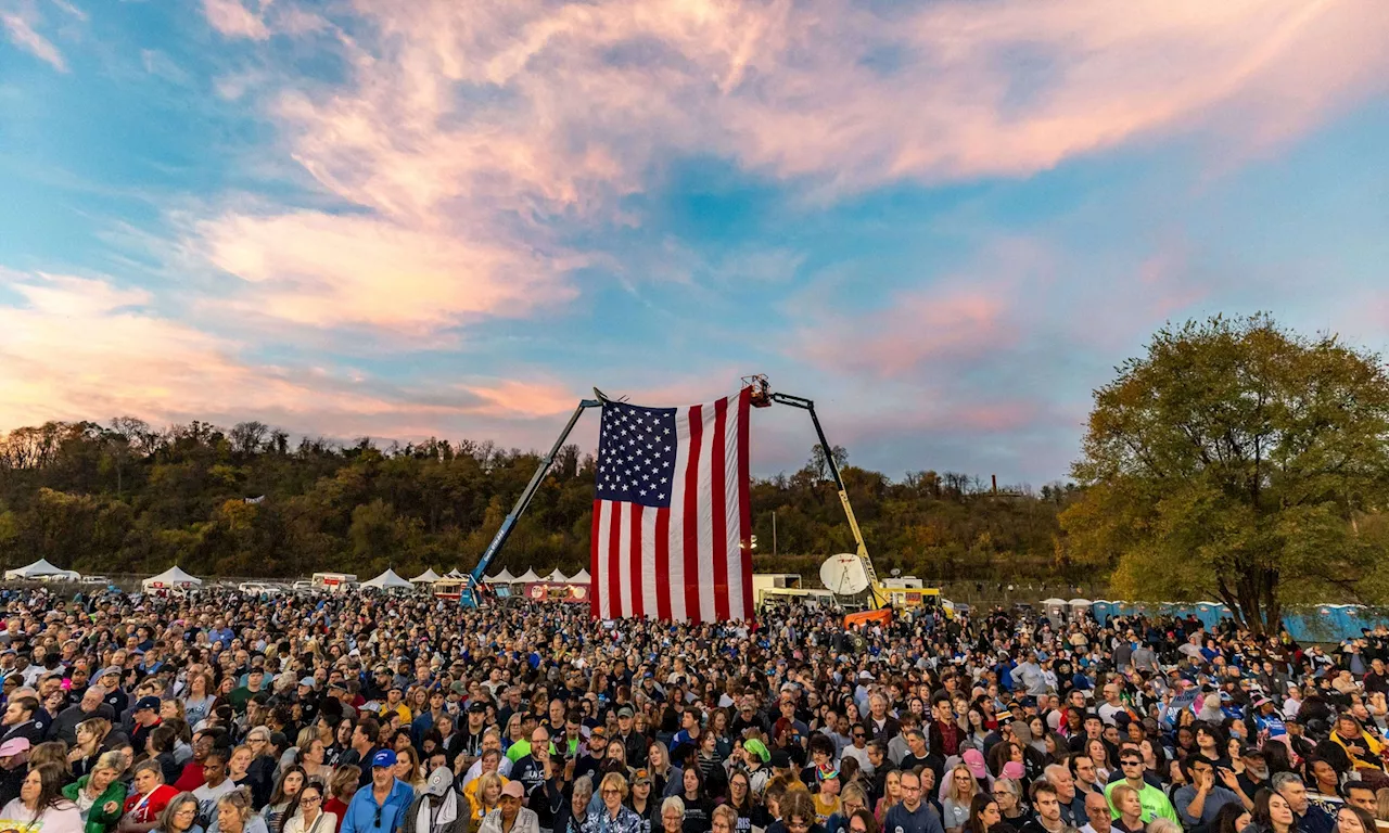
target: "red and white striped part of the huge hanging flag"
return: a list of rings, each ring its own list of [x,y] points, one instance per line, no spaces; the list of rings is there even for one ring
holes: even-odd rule
[[[593,615],[753,619],[750,390],[679,408],[669,508],[593,501]]]

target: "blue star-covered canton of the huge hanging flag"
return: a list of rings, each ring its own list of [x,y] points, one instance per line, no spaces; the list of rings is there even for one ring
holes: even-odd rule
[[[599,500],[669,507],[675,446],[675,408],[604,403],[599,433]]]

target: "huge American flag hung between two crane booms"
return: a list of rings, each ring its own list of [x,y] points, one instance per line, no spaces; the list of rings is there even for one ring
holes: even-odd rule
[[[688,408],[603,403],[594,616],[751,621],[750,401],[751,389]]]

